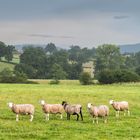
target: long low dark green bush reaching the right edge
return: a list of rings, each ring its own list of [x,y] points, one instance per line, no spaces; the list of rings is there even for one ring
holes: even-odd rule
[[[104,70],[99,73],[98,81],[102,84],[138,82],[140,77],[135,72],[129,70]]]

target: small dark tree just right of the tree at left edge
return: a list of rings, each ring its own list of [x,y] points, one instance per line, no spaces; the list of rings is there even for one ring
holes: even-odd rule
[[[5,48],[5,59],[10,62],[12,61],[13,59],[13,51],[14,51],[15,47],[12,46],[12,45],[8,45],[6,48]]]

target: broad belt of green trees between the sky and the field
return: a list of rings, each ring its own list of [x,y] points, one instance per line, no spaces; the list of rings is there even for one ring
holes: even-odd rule
[[[140,52],[121,54],[120,48],[112,44],[91,49],[77,45],[61,49],[53,43],[47,44],[45,48],[25,46],[15,71],[31,79],[79,79],[82,64],[88,61],[94,61],[95,78],[101,83],[106,82],[107,78],[119,82],[122,76],[124,79],[132,79],[128,81],[135,81],[132,77],[139,79]],[[108,83],[112,82],[109,80]]]

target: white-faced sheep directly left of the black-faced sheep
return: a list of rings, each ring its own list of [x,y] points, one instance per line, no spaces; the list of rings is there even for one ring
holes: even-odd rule
[[[64,108],[61,104],[47,104],[44,100],[41,100],[40,104],[47,121],[49,121],[49,114],[60,114],[60,118],[63,119]]]

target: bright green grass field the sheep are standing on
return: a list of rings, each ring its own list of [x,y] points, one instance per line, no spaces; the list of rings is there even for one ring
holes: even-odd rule
[[[41,80],[40,80],[41,82]],[[60,85],[42,84],[0,84],[0,139],[2,140],[140,140],[140,84],[93,85],[81,86],[77,81],[63,81]],[[81,103],[84,121],[76,121],[72,116],[70,121],[60,120],[59,115],[50,115],[50,121],[45,121],[38,101],[48,103]],[[131,116],[115,118],[115,112],[110,108],[107,124],[99,120],[92,124],[86,105],[106,104],[110,99],[127,100],[130,103]],[[21,116],[15,121],[15,114],[7,107],[7,102],[32,103],[36,107],[35,118],[29,122],[29,116]]]

